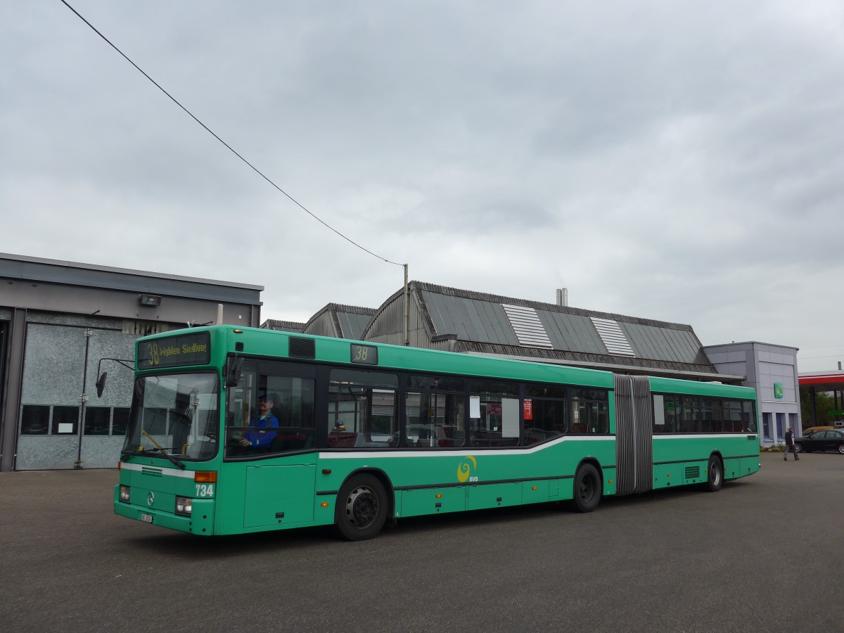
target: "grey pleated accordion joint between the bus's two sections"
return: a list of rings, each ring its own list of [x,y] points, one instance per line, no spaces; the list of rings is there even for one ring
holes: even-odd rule
[[[653,412],[647,376],[616,374],[616,494],[647,492],[653,484]]]

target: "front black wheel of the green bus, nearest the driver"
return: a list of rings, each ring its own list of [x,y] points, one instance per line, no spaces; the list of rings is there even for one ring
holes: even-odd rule
[[[387,521],[389,506],[387,490],[376,477],[371,474],[353,475],[337,495],[334,525],[343,538],[365,541],[381,532]]]

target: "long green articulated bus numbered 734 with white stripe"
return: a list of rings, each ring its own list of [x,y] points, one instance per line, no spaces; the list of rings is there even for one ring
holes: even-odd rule
[[[138,339],[115,512],[193,534],[387,521],[760,468],[755,392],[231,326]]]

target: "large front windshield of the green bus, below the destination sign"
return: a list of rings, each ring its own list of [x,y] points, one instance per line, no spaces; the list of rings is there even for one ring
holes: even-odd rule
[[[217,454],[219,378],[215,373],[139,376],[123,452],[184,459]]]

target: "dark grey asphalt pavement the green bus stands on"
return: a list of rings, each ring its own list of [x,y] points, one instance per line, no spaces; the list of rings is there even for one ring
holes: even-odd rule
[[[8,631],[838,631],[844,456],[715,494],[421,517],[361,543],[116,517],[115,470],[0,473]]]

